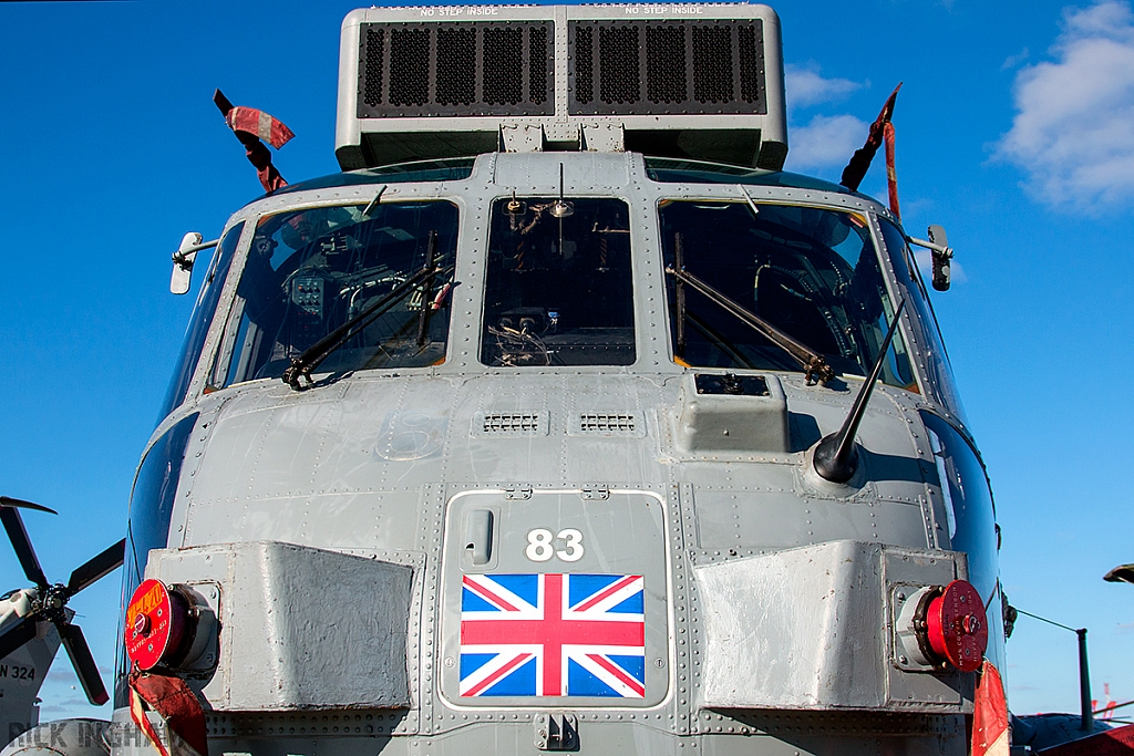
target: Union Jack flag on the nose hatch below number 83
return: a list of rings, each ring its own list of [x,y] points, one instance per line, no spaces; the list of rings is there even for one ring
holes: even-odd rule
[[[642,576],[464,576],[460,695],[645,697]]]

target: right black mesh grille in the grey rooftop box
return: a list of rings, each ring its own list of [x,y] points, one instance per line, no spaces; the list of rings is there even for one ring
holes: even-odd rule
[[[765,114],[762,40],[759,19],[572,22],[568,111]]]

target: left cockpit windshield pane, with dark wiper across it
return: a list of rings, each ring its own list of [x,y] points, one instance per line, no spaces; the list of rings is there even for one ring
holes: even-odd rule
[[[431,244],[439,272],[383,305],[373,322],[328,356],[321,372],[424,367],[445,359],[457,207],[440,201],[387,203],[261,219],[213,385],[280,377],[294,357],[418,273]]]

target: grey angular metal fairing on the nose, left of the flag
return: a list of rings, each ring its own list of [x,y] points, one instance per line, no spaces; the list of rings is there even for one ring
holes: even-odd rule
[[[153,551],[146,577],[191,586],[219,614],[220,660],[201,690],[215,711],[411,703],[407,567],[281,543],[222,543]]]

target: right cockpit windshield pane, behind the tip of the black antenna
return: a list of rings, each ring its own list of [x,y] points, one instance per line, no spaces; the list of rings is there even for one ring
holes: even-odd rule
[[[679,254],[685,271],[822,355],[837,373],[864,376],[870,372],[895,304],[887,294],[865,219],[849,212],[743,201],[665,201],[660,216],[667,266]],[[680,303],[677,286],[675,277],[668,275],[678,362],[799,369],[790,354],[704,294],[684,286]],[[882,380],[915,387],[900,333],[883,364]]]

